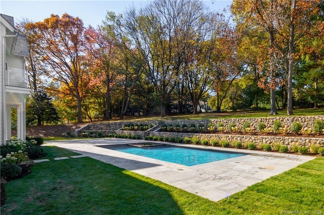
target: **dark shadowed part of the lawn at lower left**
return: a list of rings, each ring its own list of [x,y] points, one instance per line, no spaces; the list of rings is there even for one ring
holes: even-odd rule
[[[90,157],[52,160],[6,184],[1,214],[183,214],[163,186]]]

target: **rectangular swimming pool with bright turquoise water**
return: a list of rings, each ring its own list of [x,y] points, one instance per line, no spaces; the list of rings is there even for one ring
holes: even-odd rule
[[[109,148],[112,150],[126,152],[130,154],[136,154],[144,157],[150,157],[158,160],[164,160],[166,162],[181,164],[188,167],[247,155],[244,153],[222,152],[215,150],[204,150],[169,145],[148,147],[136,147],[130,145],[101,145],[100,147]]]

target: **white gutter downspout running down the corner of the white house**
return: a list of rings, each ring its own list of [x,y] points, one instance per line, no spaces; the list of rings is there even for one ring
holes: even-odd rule
[[[3,91],[3,107],[4,107],[4,111],[2,113],[2,119],[3,119],[3,125],[4,125],[4,137],[2,140],[0,140],[0,145],[2,144],[6,144],[7,139],[6,139],[6,135],[7,135],[7,108],[6,108],[6,38],[7,37],[17,37],[18,36],[18,32],[15,31],[15,34],[13,35],[5,35],[3,38],[3,69],[4,69],[4,73],[3,73],[3,86],[4,86],[4,91]]]

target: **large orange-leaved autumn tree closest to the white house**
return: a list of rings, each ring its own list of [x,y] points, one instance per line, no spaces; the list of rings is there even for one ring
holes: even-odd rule
[[[77,121],[82,122],[82,100],[87,77],[84,62],[84,26],[82,20],[63,14],[51,15],[43,22],[28,23],[35,35],[37,54],[47,67],[47,75],[65,85],[77,103]]]

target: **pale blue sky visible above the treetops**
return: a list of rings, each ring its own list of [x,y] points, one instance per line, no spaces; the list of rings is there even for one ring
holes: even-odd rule
[[[0,11],[2,14],[12,16],[15,23],[28,19],[32,22],[43,21],[51,14],[59,15],[67,13],[73,17],[83,20],[84,26],[94,27],[101,25],[105,19],[107,11],[116,14],[124,14],[129,7],[141,8],[149,0],[102,0],[102,1],[16,1],[0,0]],[[203,0],[204,4],[211,11],[222,12],[232,1],[229,0]]]

